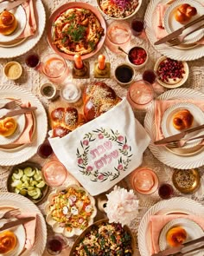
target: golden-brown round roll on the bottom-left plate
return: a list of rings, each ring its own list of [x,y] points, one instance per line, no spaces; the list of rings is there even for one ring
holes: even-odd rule
[[[16,235],[11,231],[0,233],[0,253],[8,253],[16,247]]]

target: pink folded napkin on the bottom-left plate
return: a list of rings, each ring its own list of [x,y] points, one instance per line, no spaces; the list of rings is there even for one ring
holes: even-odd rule
[[[16,216],[17,219],[23,219],[26,217],[35,217],[35,220],[30,220],[23,225],[26,232],[25,248],[29,250],[35,243],[35,226],[37,213],[21,213]]]

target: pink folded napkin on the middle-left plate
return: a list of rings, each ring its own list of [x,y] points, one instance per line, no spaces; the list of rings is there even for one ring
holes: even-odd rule
[[[23,104],[22,108],[30,107],[30,106],[31,106],[30,103],[27,103],[27,104]],[[33,128],[34,128],[33,115],[31,113],[27,113],[25,114],[25,119],[26,119],[26,123],[25,123],[25,128],[22,132],[22,135],[16,141],[12,142],[12,144],[26,144],[31,142],[32,135],[33,135]]]

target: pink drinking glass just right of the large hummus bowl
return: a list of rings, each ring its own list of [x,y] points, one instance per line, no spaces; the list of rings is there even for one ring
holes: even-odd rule
[[[109,24],[105,38],[105,45],[115,53],[120,53],[121,47],[127,50],[131,44],[131,27],[129,23],[114,21]]]

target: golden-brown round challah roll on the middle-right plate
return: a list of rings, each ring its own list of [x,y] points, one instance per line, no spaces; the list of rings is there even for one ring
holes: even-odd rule
[[[193,124],[194,116],[188,109],[182,109],[173,116],[173,126],[177,130],[190,128]]]

